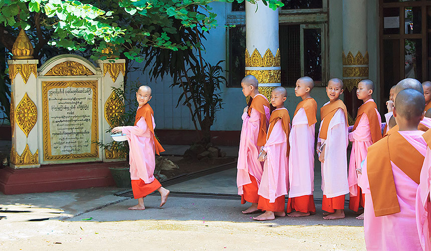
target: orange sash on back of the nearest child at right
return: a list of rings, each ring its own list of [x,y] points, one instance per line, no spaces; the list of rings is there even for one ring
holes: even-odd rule
[[[368,147],[366,168],[375,216],[400,211],[390,161],[419,183],[423,159],[424,156],[399,133],[389,134]]]

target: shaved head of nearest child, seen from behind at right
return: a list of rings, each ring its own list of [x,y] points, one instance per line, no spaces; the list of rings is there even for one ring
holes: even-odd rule
[[[396,116],[405,120],[420,121],[425,109],[423,94],[414,89],[404,89],[398,92],[395,99]]]

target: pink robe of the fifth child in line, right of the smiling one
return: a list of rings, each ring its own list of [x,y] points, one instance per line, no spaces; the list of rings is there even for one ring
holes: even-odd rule
[[[368,99],[366,102],[370,101],[374,100]],[[375,110],[377,113],[379,124],[381,124],[380,113],[377,109]],[[371,138],[370,123],[368,121],[368,116],[365,112],[362,113],[362,116],[356,129],[352,132],[349,132],[349,140],[353,142],[349,161],[349,190],[351,196],[357,196],[358,179],[361,177],[361,174],[358,174],[356,172],[356,168],[360,166],[362,160],[364,160],[367,156],[368,146],[372,145],[373,143]]]

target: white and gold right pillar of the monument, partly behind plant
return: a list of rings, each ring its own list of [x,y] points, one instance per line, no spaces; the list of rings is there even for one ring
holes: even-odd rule
[[[119,126],[115,121],[119,113],[124,112],[124,104],[116,95],[112,87],[121,88],[124,90],[124,74],[125,74],[125,59],[106,59],[97,61],[102,69],[102,138],[103,143],[112,142],[111,133],[106,132],[108,128]],[[112,119],[114,118],[114,119]],[[114,142],[116,144],[116,142]],[[103,152],[103,161],[120,161],[124,160],[125,156],[114,148],[105,149]]]

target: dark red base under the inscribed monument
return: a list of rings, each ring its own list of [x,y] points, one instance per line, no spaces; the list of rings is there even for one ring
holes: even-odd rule
[[[5,194],[50,192],[114,186],[112,162],[41,165],[39,168],[0,168],[0,191]]]

